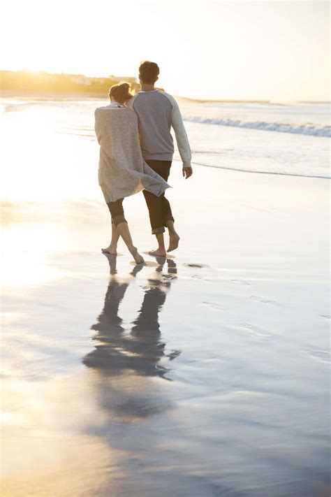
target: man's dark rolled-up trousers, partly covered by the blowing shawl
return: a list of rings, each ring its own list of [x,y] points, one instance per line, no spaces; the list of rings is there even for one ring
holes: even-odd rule
[[[172,161],[145,160],[145,162],[153,171],[158,173],[163,180],[168,180]],[[143,194],[147,203],[152,234],[157,235],[159,233],[164,233],[166,223],[170,220],[175,221],[172,217],[169,201],[165,199],[164,193],[161,196],[156,196],[147,192],[147,190],[144,190]]]

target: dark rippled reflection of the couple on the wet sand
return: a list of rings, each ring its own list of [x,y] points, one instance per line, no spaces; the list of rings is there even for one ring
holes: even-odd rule
[[[107,256],[106,256],[107,257]],[[159,312],[165,303],[167,291],[171,282],[177,278],[176,264],[171,259],[158,258],[158,266],[152,278],[147,280],[147,287],[138,317],[133,322],[129,333],[122,326],[119,317],[119,304],[123,301],[130,282],[135,278],[143,265],[135,266],[130,273],[130,279],[121,279],[116,271],[116,257],[109,256],[110,282],[105,294],[105,303],[98,322],[91,326],[97,331],[94,340],[98,341],[95,349],[87,354],[83,363],[89,368],[95,368],[106,375],[121,375],[131,372],[138,375],[164,377],[168,372],[159,364],[165,356],[165,343],[161,340]],[[163,278],[162,271],[165,262],[168,265],[168,278]],[[172,352],[170,360],[180,352]]]

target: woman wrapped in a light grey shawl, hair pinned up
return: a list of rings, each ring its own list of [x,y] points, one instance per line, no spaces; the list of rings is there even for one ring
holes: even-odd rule
[[[169,185],[147,166],[140,150],[138,117],[125,106],[132,97],[127,82],[110,88],[110,105],[95,111],[95,131],[100,145],[98,183],[112,217],[112,240],[103,253],[117,255],[117,242],[122,236],[135,262],[144,262],[133,245],[124,217],[124,197],[147,189],[156,196]]]

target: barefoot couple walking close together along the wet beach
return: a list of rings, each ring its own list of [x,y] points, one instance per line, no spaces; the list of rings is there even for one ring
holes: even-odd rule
[[[165,189],[174,153],[171,127],[175,131],[183,176],[192,175],[191,150],[186,131],[173,96],[154,85],[159,78],[155,62],[142,62],[139,68],[141,91],[134,96],[127,82],[110,88],[110,105],[95,111],[95,131],[100,145],[98,183],[112,217],[112,240],[102,251],[117,255],[117,242],[122,236],[135,262],[144,261],[133,245],[124,217],[123,200],[143,191],[152,234],[158,247],[149,254],[165,257],[163,233],[169,232],[167,252],[178,247],[179,236]]]

